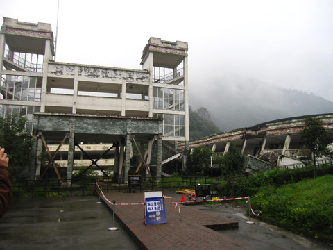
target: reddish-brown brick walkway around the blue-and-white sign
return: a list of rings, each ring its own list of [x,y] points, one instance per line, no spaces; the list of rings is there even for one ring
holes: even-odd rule
[[[207,228],[207,225],[217,225],[220,228],[237,227],[238,222],[219,215],[203,213],[192,206],[181,205],[179,213],[172,202],[178,201],[180,195],[169,195],[169,198],[165,197],[167,223],[149,226],[144,225],[144,192],[108,192],[105,193],[103,200],[111,210],[113,205],[108,201],[115,200],[116,204],[141,203],[140,205],[116,205],[115,214],[119,223],[128,230],[142,249],[255,249]]]

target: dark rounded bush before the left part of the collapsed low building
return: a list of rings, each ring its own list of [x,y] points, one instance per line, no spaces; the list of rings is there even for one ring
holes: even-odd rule
[[[228,153],[221,158],[221,169],[223,175],[244,172],[244,156],[234,144],[230,144]]]

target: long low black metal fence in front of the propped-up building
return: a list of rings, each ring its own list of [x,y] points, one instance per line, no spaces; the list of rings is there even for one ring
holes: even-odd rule
[[[117,182],[110,179],[81,178],[71,182],[54,180],[24,180],[12,181],[12,193],[15,197],[72,197],[94,195],[99,192],[96,181],[103,192],[143,192],[144,190],[170,190],[176,192],[182,189],[195,189],[197,184],[209,184],[212,190],[219,190],[225,182],[235,181],[233,178],[222,177],[167,177],[143,178],[140,185],[131,186],[128,179],[119,179]]]

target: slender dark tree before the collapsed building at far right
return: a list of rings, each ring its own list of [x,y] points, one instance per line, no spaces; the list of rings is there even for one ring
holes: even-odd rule
[[[326,136],[326,131],[321,119],[305,117],[304,128],[300,131],[300,135],[310,149],[311,158],[314,163],[314,178],[316,178],[316,159],[322,154],[327,155],[327,149],[322,143]]]

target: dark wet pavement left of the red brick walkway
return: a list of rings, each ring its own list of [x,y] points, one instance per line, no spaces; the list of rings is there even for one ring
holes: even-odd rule
[[[139,249],[98,197],[12,199],[0,249]]]

